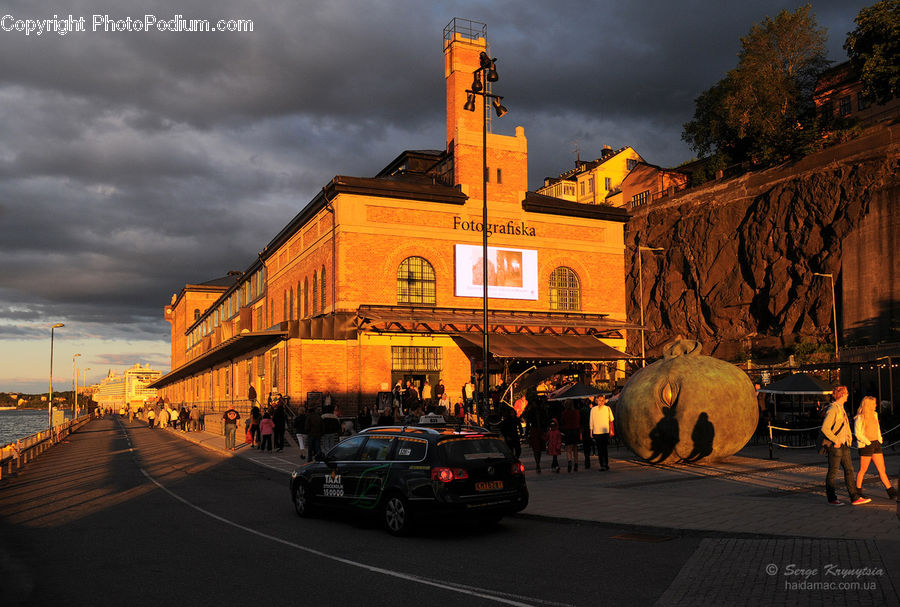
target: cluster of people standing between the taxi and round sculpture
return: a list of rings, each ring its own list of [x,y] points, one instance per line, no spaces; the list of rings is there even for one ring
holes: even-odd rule
[[[585,469],[591,467],[591,454],[596,450],[599,469],[609,470],[609,439],[615,436],[615,415],[605,396],[596,396],[592,400],[581,399],[578,402],[566,400],[561,407],[558,404],[544,406],[536,400],[528,402],[527,397],[523,396],[505,415],[512,420],[517,411],[522,411],[528,445],[538,474],[541,473],[541,459],[545,450],[552,458],[551,471],[560,472],[559,457],[565,450],[567,470],[578,472],[579,445],[584,454]],[[512,436],[512,430],[516,426],[520,425],[513,421],[501,423],[501,433],[511,447],[516,443],[514,452],[518,457],[521,453],[517,445],[518,436]]]

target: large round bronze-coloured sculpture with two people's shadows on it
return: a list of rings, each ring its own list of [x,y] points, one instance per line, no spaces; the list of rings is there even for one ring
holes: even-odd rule
[[[721,459],[753,436],[759,410],[750,378],[700,350],[686,339],[666,345],[663,359],[635,373],[622,390],[616,432],[639,457]]]

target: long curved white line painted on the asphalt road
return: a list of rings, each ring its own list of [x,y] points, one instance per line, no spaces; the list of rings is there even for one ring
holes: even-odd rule
[[[550,602],[550,601],[542,601],[540,599],[535,599],[532,597],[523,597],[523,596],[519,596],[519,595],[515,595],[515,594],[497,592],[497,591],[489,590],[486,588],[477,588],[474,586],[463,586],[461,584],[453,584],[450,582],[438,582],[438,581],[435,581],[432,579],[419,577],[417,575],[403,573],[401,571],[393,571],[391,569],[384,569],[382,567],[375,567],[373,565],[367,565],[365,563],[360,563],[359,561],[352,561],[350,559],[346,559],[343,557],[334,556],[332,554],[328,554],[326,552],[316,550],[315,548],[310,548],[309,546],[302,546],[300,544],[290,542],[290,541],[282,539],[280,537],[276,537],[274,535],[269,535],[268,533],[262,533],[261,531],[257,531],[256,529],[251,529],[250,527],[241,525],[240,523],[236,523],[227,518],[219,516],[218,514],[210,512],[209,510],[206,510],[205,508],[201,508],[200,506],[197,506],[197,505],[189,502],[185,498],[181,497],[180,495],[174,493],[168,487],[165,487],[162,483],[160,483],[155,478],[150,476],[150,474],[143,468],[141,468],[140,470],[141,470],[141,473],[144,476],[146,476],[147,479],[151,483],[153,483],[154,485],[159,487],[162,491],[169,494],[170,496],[172,496],[174,499],[178,500],[185,506],[192,508],[192,509],[196,510],[197,512],[200,512],[201,514],[205,514],[206,516],[213,518],[221,523],[225,523],[226,525],[231,525],[232,527],[241,529],[242,531],[246,531],[247,533],[251,533],[258,537],[261,537],[261,538],[264,538],[267,540],[271,540],[271,541],[277,542],[279,544],[284,544],[285,546],[289,546],[291,548],[296,548],[297,550],[302,550],[303,552],[307,552],[307,553],[313,554],[315,556],[320,556],[322,558],[326,558],[326,559],[329,559],[329,560],[332,560],[332,561],[335,561],[338,563],[342,563],[344,565],[349,565],[351,567],[358,567],[360,569],[365,569],[366,571],[370,571],[372,573],[378,573],[381,575],[399,578],[401,580],[406,580],[408,582],[413,582],[415,584],[423,584],[425,586],[433,586],[435,588],[440,588],[442,590],[449,590],[451,592],[458,592],[460,594],[468,594],[470,596],[474,596],[474,597],[477,597],[480,599],[494,601],[497,603],[504,603],[506,605],[517,605],[520,607],[533,607],[534,605],[547,605],[550,607],[562,607],[563,605],[568,605],[567,603],[555,603],[555,602]],[[523,601],[528,601],[528,602],[526,603]]]

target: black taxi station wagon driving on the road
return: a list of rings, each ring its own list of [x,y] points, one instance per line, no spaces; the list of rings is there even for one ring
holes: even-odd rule
[[[376,426],[291,474],[300,516],[343,508],[381,517],[388,532],[443,515],[496,522],[528,505],[524,466],[506,443],[472,426]]]

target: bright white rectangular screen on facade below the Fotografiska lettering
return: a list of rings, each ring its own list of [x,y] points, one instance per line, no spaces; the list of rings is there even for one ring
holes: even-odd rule
[[[456,296],[484,295],[482,247],[456,245]],[[537,299],[537,251],[488,247],[488,297]]]

